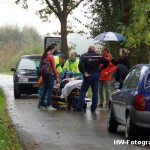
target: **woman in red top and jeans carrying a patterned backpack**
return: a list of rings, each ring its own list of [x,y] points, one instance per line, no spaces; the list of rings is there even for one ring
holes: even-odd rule
[[[39,71],[43,77],[44,83],[44,91],[41,96],[41,101],[39,105],[40,110],[53,110],[54,108],[51,106],[51,96],[54,86],[54,80],[58,80],[58,74],[54,62],[54,56],[52,55],[54,52],[54,46],[49,45],[44,51],[41,61]],[[47,104],[44,107],[45,96],[47,95]]]

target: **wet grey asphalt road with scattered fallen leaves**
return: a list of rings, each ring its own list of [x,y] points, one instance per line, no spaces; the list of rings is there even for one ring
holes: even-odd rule
[[[39,111],[38,96],[14,100],[12,76],[0,75],[0,87],[7,97],[8,112],[24,150],[146,150],[149,146],[114,145],[124,139],[124,127],[107,132],[107,109],[91,113],[67,110]]]

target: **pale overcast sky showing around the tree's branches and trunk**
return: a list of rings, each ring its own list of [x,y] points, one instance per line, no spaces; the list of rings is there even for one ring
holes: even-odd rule
[[[42,22],[42,20],[35,14],[39,5],[36,0],[29,1],[29,8],[24,10],[21,8],[21,5],[16,5],[15,0],[0,0],[0,26],[3,25],[17,25],[23,27],[24,25],[33,26],[41,35],[46,35],[50,33],[53,35],[53,32],[60,30],[60,23],[55,16],[51,17],[51,23]],[[77,16],[78,19],[81,19],[84,23],[88,22],[86,18],[83,17],[82,6],[73,11],[73,15],[70,16],[72,25],[76,25],[77,28],[84,28],[77,21],[72,19],[73,16]],[[85,29],[85,28],[84,28]],[[87,30],[87,29],[86,29]],[[69,35],[68,43],[74,43],[77,45],[77,51],[81,54],[83,49],[87,49],[87,46],[91,44],[92,40],[87,40],[86,36],[82,37],[80,35]]]

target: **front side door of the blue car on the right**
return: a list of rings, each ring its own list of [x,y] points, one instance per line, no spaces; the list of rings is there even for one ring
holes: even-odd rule
[[[125,99],[126,99],[126,92],[128,88],[128,84],[130,82],[130,79],[134,73],[135,69],[131,70],[127,77],[124,80],[123,86],[120,89],[120,91],[117,91],[113,96],[113,107],[114,107],[114,113],[116,119],[122,123],[123,119],[123,114],[125,111]]]

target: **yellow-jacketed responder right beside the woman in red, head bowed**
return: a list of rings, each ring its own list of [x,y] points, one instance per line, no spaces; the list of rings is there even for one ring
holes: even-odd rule
[[[62,66],[66,60],[66,56],[64,54],[59,54],[58,56],[54,56],[54,60],[55,60],[57,73],[59,74],[59,77],[62,79],[64,77]]]

